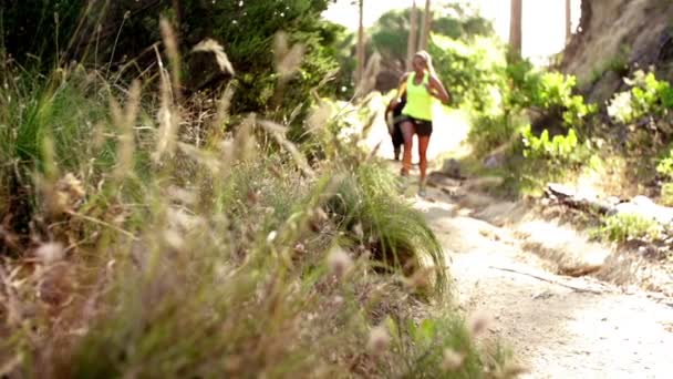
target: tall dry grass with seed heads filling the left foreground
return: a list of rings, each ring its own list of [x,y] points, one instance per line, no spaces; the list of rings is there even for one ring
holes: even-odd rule
[[[446,263],[395,177],[329,127],[311,132],[319,163],[263,116],[225,131],[234,86],[209,122],[190,117],[162,32],[158,93],[81,66],[2,72],[0,376],[503,371],[478,330],[427,310],[447,299]],[[279,57],[281,75],[293,64]]]

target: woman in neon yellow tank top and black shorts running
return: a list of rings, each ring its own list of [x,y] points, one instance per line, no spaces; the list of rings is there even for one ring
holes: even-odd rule
[[[400,80],[397,93],[406,92],[406,105],[402,110],[402,134],[404,135],[404,153],[402,155],[403,176],[407,176],[412,167],[412,144],[414,133],[418,135],[418,156],[421,181],[418,195],[425,196],[425,175],[427,172],[427,145],[433,133],[433,96],[447,104],[448,92],[437,79],[432,58],[425,51],[418,51],[412,62],[414,71],[407,72]]]

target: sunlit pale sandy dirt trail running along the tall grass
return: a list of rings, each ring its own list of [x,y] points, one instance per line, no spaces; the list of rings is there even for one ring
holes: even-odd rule
[[[488,197],[467,203],[431,188],[416,206],[451,254],[462,308],[494,319],[490,331],[511,345],[530,370],[526,378],[671,378],[673,305],[592,277],[555,275],[521,225],[500,222],[515,204]],[[536,223],[545,224],[538,238],[552,242],[548,248],[610,254],[557,225]]]

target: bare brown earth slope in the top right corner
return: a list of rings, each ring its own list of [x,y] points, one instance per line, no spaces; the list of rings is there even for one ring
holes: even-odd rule
[[[581,8],[561,69],[578,76],[590,101],[602,104],[639,68],[673,80],[673,2],[583,0]]]

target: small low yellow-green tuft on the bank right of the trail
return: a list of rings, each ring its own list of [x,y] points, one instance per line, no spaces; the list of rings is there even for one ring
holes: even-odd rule
[[[651,218],[636,214],[617,214],[604,219],[604,225],[594,235],[597,237],[623,243],[631,239],[655,239],[661,234],[661,226]]]

